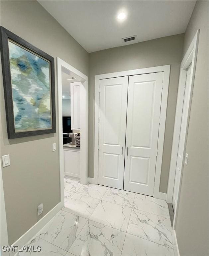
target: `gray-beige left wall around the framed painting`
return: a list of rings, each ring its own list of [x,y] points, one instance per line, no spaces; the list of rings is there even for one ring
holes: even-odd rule
[[[0,4],[2,26],[54,57],[55,87],[57,56],[88,75],[88,53],[37,1]],[[12,244],[60,202],[58,133],[8,140],[0,72],[1,153],[10,154],[11,162],[9,167],[2,168],[2,176],[9,244]],[[52,152],[54,142],[57,150]],[[44,204],[44,211],[38,217],[40,203]]]

